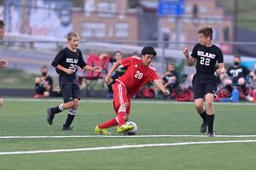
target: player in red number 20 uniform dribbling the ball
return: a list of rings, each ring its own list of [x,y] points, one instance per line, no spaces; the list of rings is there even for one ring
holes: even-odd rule
[[[113,108],[117,116],[110,119],[108,122],[97,125],[95,127],[96,133],[110,134],[106,128],[117,125],[119,125],[117,133],[124,133],[134,128],[131,125],[125,125],[125,122],[128,121],[130,114],[131,98],[145,83],[154,81],[163,94],[170,94],[170,92],[164,88],[154,67],[150,65],[155,55],[156,52],[153,47],[144,47],[142,50],[142,58],[131,56],[118,60],[112,66],[108,75],[105,77],[106,82],[110,81],[113,71],[115,71],[119,65],[123,65],[127,69],[125,74],[119,77],[119,79],[116,79],[113,85]]]

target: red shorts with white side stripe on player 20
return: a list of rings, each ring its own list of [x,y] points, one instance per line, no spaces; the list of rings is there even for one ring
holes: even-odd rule
[[[131,110],[131,99],[128,97],[125,84],[116,81],[113,85],[113,109],[116,114],[119,112],[119,106],[124,103],[129,104],[126,109],[126,114],[129,115]]]

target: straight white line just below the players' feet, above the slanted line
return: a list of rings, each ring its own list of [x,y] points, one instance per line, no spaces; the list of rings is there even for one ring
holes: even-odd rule
[[[0,136],[0,139],[65,139],[65,138],[165,138],[165,137],[195,137],[209,138],[207,135],[134,135],[134,136],[103,136],[103,135],[71,135],[71,136]],[[256,135],[216,135],[220,138],[256,138]]]

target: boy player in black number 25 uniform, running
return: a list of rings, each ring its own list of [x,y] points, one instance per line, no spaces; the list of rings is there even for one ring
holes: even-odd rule
[[[79,35],[75,32],[67,34],[67,48],[63,48],[56,56],[51,65],[55,67],[59,74],[59,84],[64,103],[51,107],[47,110],[47,122],[52,124],[55,114],[64,110],[68,111],[68,116],[62,130],[73,130],[70,127],[76,111],[79,107],[80,89],[76,76],[77,67],[89,71],[102,71],[102,67],[91,67],[84,62],[82,52],[79,50]]]

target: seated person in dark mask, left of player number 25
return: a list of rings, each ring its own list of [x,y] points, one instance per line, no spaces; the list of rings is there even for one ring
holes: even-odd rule
[[[43,65],[41,68],[41,77],[35,79],[35,95],[34,99],[49,98],[52,93],[53,79],[48,76],[48,68]]]

